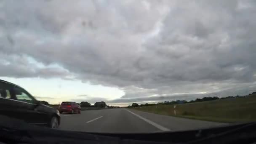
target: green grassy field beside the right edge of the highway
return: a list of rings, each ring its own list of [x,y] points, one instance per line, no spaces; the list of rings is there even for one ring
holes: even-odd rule
[[[219,99],[189,104],[133,108],[144,112],[217,122],[256,121],[256,96]],[[176,110],[176,115],[174,114]]]

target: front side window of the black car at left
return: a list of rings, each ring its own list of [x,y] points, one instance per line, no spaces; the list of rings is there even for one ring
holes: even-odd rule
[[[29,94],[26,91],[24,91],[23,89],[14,88],[13,92],[14,92],[14,95],[16,97],[16,100],[28,102],[28,103],[31,103],[31,104],[35,103],[35,100],[32,99],[32,97],[29,96]]]

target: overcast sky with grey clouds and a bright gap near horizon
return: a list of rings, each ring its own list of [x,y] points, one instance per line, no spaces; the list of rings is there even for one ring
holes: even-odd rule
[[[255,0],[0,1],[0,78],[51,103],[248,94],[255,16]]]

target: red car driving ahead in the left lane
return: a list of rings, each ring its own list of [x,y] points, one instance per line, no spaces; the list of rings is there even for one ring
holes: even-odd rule
[[[64,101],[59,106],[59,112],[68,112],[74,114],[75,112],[81,113],[81,107],[76,102]]]

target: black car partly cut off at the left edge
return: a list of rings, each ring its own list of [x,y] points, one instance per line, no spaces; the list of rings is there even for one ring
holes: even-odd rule
[[[60,125],[57,109],[40,104],[24,88],[4,80],[0,80],[0,115],[50,128]]]

